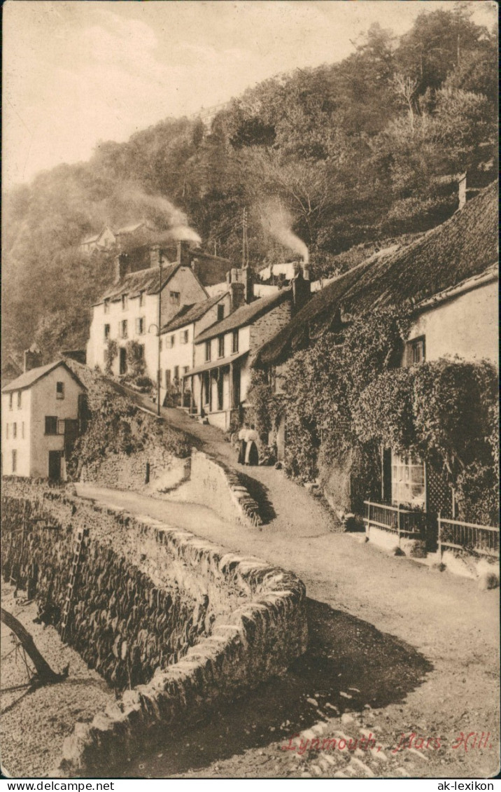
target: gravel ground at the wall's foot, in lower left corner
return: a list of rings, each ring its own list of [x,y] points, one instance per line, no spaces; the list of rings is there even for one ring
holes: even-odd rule
[[[2,584],[2,607],[25,626],[53,671],[69,663],[68,678],[34,691],[25,686],[28,673],[22,653],[13,650],[12,633],[2,624],[2,687],[0,740],[2,768],[13,778],[40,778],[55,767],[63,741],[76,721],[89,722],[98,710],[115,701],[114,692],[95,671],[87,668],[54,627],[34,624],[36,604],[25,592],[14,598],[13,587]],[[32,666],[31,661],[28,664]],[[13,689],[17,688],[17,689]]]

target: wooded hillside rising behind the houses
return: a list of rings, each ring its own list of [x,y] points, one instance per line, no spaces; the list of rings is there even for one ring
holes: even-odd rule
[[[459,174],[492,181],[494,32],[451,3],[423,10],[400,39],[373,25],[355,44],[338,63],[247,90],[210,128],[169,118],[6,193],[4,353],[33,341],[47,360],[84,348],[113,263],[78,243],[104,223],[148,219],[159,238],[189,227],[237,265],[245,208],[252,267],[298,257],[301,240],[313,276],[328,276],[442,223],[457,209]]]

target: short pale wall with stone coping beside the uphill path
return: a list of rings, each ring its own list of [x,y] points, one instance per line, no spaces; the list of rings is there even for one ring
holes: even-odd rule
[[[262,524],[259,505],[229,466],[193,449],[191,477],[203,493],[203,502],[223,520],[243,525]]]

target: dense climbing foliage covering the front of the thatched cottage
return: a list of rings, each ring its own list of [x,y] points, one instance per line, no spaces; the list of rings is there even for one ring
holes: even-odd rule
[[[250,414],[265,435],[287,417],[286,470],[300,481],[351,469],[352,508],[381,495],[381,447],[418,455],[454,487],[459,515],[495,524],[499,482],[497,375],[487,361],[400,367],[409,314],[357,318],[296,352],[282,392],[256,372]]]

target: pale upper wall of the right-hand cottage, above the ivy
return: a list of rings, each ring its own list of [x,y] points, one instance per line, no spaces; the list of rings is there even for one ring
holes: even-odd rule
[[[409,340],[425,337],[426,360],[457,355],[497,365],[498,304],[497,281],[467,291],[420,314]]]

